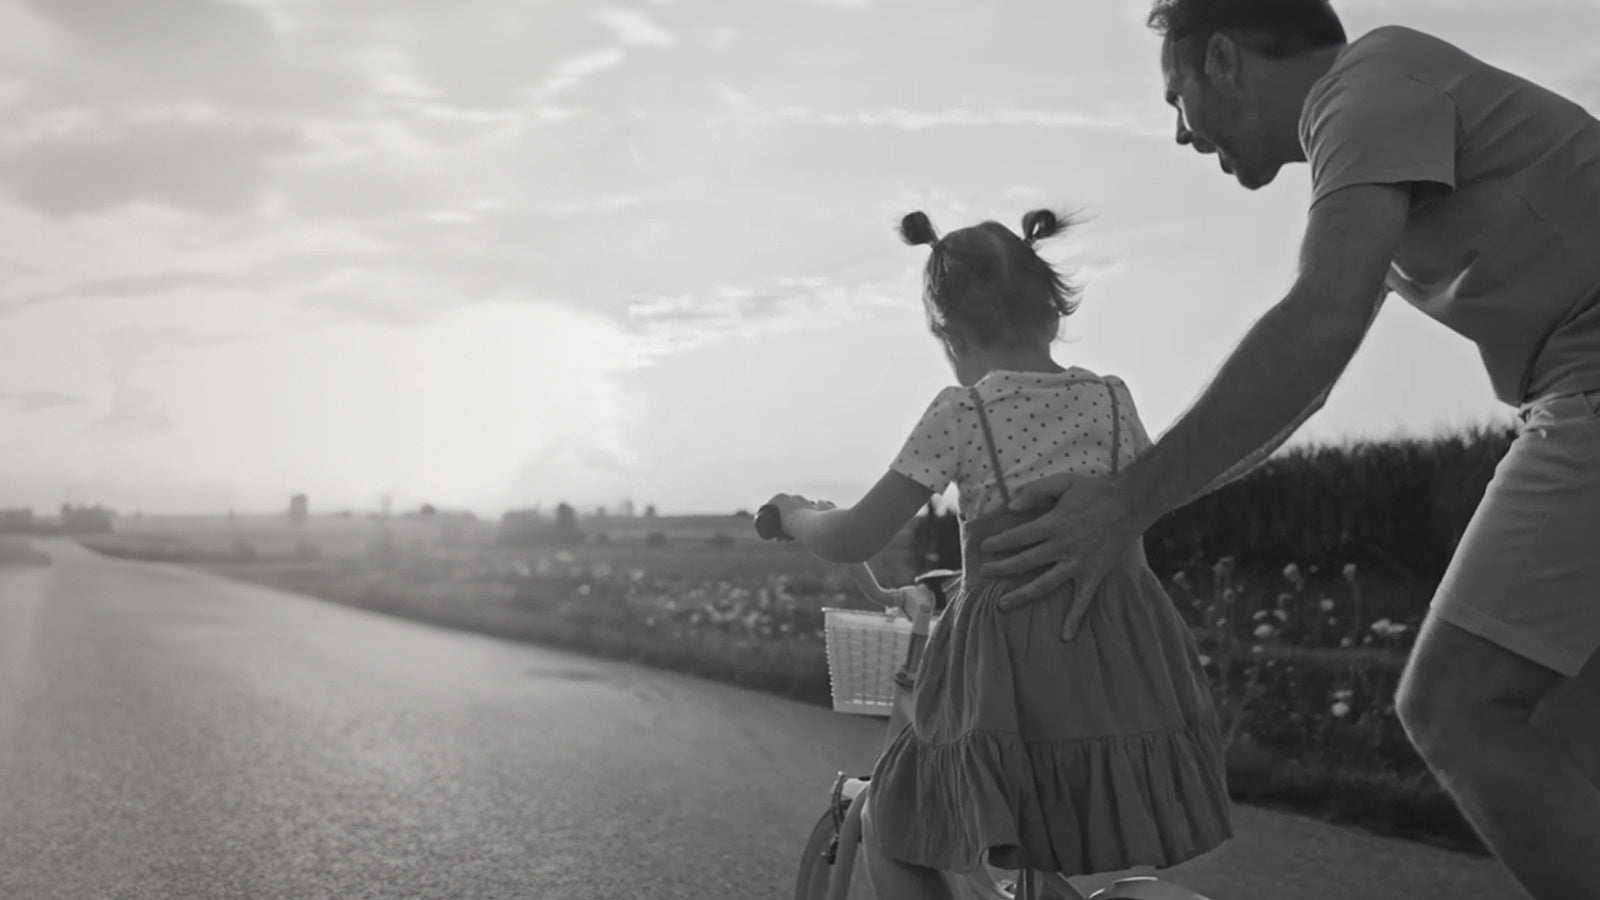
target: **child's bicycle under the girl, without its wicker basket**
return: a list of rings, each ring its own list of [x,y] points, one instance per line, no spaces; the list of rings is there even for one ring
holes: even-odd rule
[[[790,540],[781,527],[778,509],[762,506],[755,514],[755,533],[762,540]],[[910,641],[899,669],[894,673],[894,697],[883,738],[890,741],[910,721],[912,673],[922,660],[928,628],[949,605],[949,586],[960,580],[960,572],[936,569],[914,580],[912,591],[880,591],[874,599],[885,602],[883,594],[899,599],[898,609],[888,607],[886,615],[910,620]],[[870,790],[870,777],[851,777],[840,772],[829,791],[827,810],[811,830],[800,855],[800,871],[795,878],[795,900],[867,900],[875,897],[869,879],[856,878],[856,857],[861,847],[861,810]],[[1206,900],[1206,897],[1163,881],[1154,874],[1131,874],[1085,897],[1061,873],[1029,868],[998,868],[984,865],[968,874],[946,874],[952,894],[960,900]],[[856,889],[856,890],[853,890]]]

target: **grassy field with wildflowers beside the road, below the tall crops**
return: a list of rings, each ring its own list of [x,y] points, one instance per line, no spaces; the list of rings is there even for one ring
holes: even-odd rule
[[[142,517],[85,543],[334,602],[629,658],[829,703],[822,607],[866,607],[843,567],[747,517],[582,520],[579,544],[501,546],[493,522],[400,516]],[[597,535],[605,538],[597,541]],[[904,583],[909,528],[874,567]],[[1363,613],[1354,567],[1307,580],[1232,559],[1170,578],[1232,735],[1235,799],[1483,849],[1405,740],[1394,687],[1414,633]],[[1254,581],[1251,581],[1254,578]]]

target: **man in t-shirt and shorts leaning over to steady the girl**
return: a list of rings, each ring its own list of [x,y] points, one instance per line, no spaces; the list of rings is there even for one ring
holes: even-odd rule
[[[1054,509],[986,543],[984,572],[1072,583],[1064,637],[1163,514],[1277,448],[1328,394],[1386,293],[1477,343],[1522,434],[1438,586],[1400,719],[1539,900],[1600,897],[1600,122],[1426,34],[1347,42],[1326,0],[1158,0],[1178,143],[1246,189],[1309,162],[1299,277],[1195,405],[1114,480],[1053,479]],[[1600,679],[1595,679],[1600,681]],[[1557,687],[1570,708],[1534,708]],[[1584,746],[1587,743],[1587,751]]]

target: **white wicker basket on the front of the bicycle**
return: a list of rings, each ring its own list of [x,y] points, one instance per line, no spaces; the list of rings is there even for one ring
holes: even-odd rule
[[[822,628],[834,711],[888,716],[894,706],[894,673],[910,647],[910,620],[899,610],[824,607]]]

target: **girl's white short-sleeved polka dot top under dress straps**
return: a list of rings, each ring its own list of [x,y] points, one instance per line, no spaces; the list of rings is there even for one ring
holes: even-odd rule
[[[1118,429],[1118,466],[1150,445],[1133,394],[1117,376],[1102,378],[1077,367],[1066,372],[990,372],[974,388],[989,415],[1010,490],[1064,472],[1110,476],[1112,428]],[[1110,391],[1117,392],[1115,423]],[[939,391],[890,471],[933,493],[944,493],[954,482],[965,520],[1003,506],[1000,480],[970,388]]]

